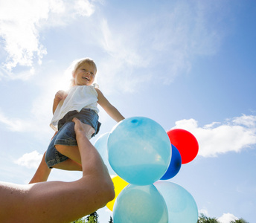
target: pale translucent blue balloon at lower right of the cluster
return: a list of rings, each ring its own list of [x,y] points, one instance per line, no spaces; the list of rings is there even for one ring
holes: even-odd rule
[[[196,223],[198,210],[191,193],[170,181],[158,181],[154,184],[167,204],[169,222]]]

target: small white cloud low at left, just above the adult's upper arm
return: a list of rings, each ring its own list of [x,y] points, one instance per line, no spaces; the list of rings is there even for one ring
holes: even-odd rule
[[[39,154],[36,150],[30,153],[25,153],[21,158],[16,160],[14,163],[22,167],[37,168],[40,161],[42,160],[42,154]]]

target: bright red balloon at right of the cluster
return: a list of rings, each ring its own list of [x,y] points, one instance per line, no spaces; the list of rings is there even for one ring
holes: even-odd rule
[[[179,150],[182,164],[188,164],[196,158],[198,153],[198,142],[196,138],[185,129],[171,129],[167,132],[170,143]]]

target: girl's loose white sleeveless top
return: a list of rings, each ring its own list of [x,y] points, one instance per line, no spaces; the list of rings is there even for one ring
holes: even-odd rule
[[[61,120],[68,111],[81,111],[82,109],[97,109],[97,91],[95,85],[75,85],[67,92],[65,100],[61,100],[54,112],[51,120],[51,128],[57,131],[58,121]]]

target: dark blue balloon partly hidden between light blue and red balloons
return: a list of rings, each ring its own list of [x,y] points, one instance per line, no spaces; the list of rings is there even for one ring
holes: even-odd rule
[[[180,167],[182,167],[182,157],[179,150],[172,145],[172,158],[170,160],[170,165],[160,180],[173,178],[179,172]]]

